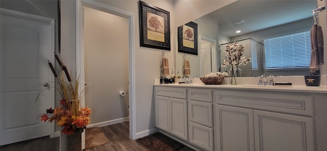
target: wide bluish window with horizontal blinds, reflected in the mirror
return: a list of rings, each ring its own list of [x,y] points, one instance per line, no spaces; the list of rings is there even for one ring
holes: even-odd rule
[[[310,65],[310,31],[265,39],[265,68],[307,68]]]

